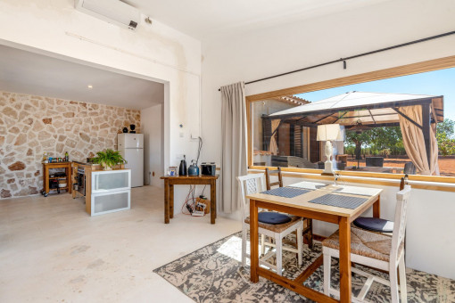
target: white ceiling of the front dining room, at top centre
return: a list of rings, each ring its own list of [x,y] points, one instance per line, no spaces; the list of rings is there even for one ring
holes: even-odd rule
[[[152,20],[200,39],[267,29],[385,1],[391,0],[124,0]]]

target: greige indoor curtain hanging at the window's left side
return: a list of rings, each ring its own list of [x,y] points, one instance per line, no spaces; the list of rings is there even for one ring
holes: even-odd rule
[[[247,173],[246,105],[244,82],[221,87],[221,210],[240,208],[236,177]]]

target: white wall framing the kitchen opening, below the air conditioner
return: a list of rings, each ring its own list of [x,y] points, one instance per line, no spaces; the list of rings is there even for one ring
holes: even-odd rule
[[[199,131],[200,41],[156,20],[121,29],[76,11],[73,0],[3,0],[0,44],[165,83],[164,166],[177,165],[180,153],[195,158],[190,135]],[[176,189],[175,209],[185,194]]]

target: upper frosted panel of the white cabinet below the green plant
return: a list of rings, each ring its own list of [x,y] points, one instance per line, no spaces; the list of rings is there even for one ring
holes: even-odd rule
[[[130,171],[110,171],[94,173],[92,192],[105,192],[130,187]]]

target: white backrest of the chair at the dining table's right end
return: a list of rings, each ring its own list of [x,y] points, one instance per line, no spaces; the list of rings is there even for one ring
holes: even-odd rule
[[[410,185],[404,185],[404,189],[396,193],[395,219],[393,224],[391,261],[397,261],[401,243],[404,242],[406,232],[407,210],[410,195]]]

